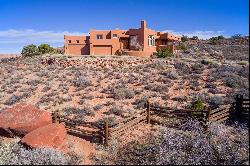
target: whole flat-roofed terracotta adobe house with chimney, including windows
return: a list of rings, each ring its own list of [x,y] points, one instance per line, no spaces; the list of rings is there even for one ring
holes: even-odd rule
[[[64,50],[68,55],[119,55],[149,57],[158,49],[167,47],[176,52],[180,36],[157,32],[146,27],[129,30],[91,30],[89,36],[64,35]]]

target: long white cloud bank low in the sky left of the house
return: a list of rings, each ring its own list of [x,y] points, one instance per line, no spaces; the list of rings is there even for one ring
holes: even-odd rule
[[[87,33],[9,29],[0,31],[0,43],[58,43],[63,42],[64,35],[87,35]]]

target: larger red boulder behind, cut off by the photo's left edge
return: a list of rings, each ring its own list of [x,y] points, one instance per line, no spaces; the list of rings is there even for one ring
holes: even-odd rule
[[[27,134],[39,127],[52,123],[49,112],[41,111],[33,105],[17,104],[1,111],[0,129],[12,130],[18,134]]]

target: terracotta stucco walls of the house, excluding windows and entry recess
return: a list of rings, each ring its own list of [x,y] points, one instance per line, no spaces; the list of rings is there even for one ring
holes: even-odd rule
[[[113,38],[113,34],[117,34],[117,38]],[[97,39],[97,35],[102,35],[103,39]],[[107,55],[116,54],[120,49],[126,45],[129,50],[139,51],[137,48],[131,46],[130,36],[136,35],[137,42],[142,46],[141,51],[148,56],[156,52],[157,48],[162,45],[162,40],[180,41],[180,36],[175,36],[170,33],[156,32],[148,29],[146,21],[141,21],[141,27],[138,29],[129,30],[91,30],[90,36],[65,36],[65,54],[70,55]],[[157,39],[155,46],[148,45],[148,36],[153,35]],[[122,38],[120,40],[120,38]],[[71,40],[71,43],[68,41]],[[76,43],[79,40],[79,43]],[[123,41],[123,42],[122,42]],[[134,53],[132,53],[134,54]],[[141,52],[139,53],[141,54]]]

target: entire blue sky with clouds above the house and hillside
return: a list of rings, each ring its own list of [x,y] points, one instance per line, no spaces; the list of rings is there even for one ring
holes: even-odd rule
[[[0,0],[0,53],[30,43],[63,46],[63,34],[147,26],[200,38],[249,34],[248,0]]]

